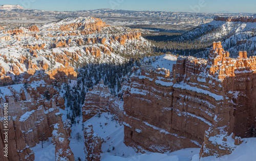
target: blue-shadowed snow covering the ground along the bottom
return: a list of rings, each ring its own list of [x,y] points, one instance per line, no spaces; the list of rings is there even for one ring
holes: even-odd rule
[[[85,159],[83,152],[83,131],[82,131],[82,123],[81,118],[79,119],[79,124],[76,126],[72,126],[72,139],[70,139],[70,147],[72,152],[74,153],[75,159],[78,160],[78,157],[81,160]],[[104,143],[102,144],[102,154],[101,160],[199,160],[199,152],[200,148],[187,148],[178,150],[171,153],[153,153],[146,152],[144,154],[137,153],[136,149],[132,147],[127,147],[123,143],[124,137],[124,128],[123,125],[120,125],[117,121],[113,119],[113,116],[110,113],[102,113],[99,116],[94,116],[90,120],[86,121],[84,125],[87,124],[93,125],[93,130],[104,139]],[[79,141],[75,138],[76,133],[79,133],[82,137]],[[41,148],[40,144],[37,144],[32,148],[35,152],[35,160],[55,160],[55,146],[51,144],[51,137],[49,138],[49,142],[44,143],[44,148]],[[238,146],[232,154],[222,156],[220,158],[216,158],[214,156],[209,156],[205,158],[201,158],[201,160],[255,160],[256,158],[256,138],[245,139],[244,143]],[[109,151],[109,152],[108,152]]]

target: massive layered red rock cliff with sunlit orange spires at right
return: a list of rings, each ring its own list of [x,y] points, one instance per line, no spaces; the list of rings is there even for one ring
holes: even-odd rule
[[[207,145],[209,128],[214,136],[249,137],[256,116],[255,59],[246,52],[230,58],[217,42],[208,60],[179,57],[172,72],[143,66],[124,85],[125,144],[154,152],[200,147]]]

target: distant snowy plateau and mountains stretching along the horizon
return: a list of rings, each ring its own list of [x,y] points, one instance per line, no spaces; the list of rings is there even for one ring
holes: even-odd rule
[[[94,16],[101,18],[107,24],[113,26],[127,26],[146,30],[184,32],[206,24],[215,16],[248,16],[251,13],[186,13],[164,11],[127,11],[112,9],[96,9],[82,11],[45,11],[25,9],[18,5],[2,5],[0,8],[0,22],[16,24],[17,21],[28,23],[43,23],[56,21],[68,17]]]

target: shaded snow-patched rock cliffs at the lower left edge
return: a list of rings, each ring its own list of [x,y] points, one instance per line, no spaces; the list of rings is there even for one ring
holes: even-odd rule
[[[35,85],[34,85],[35,86]],[[18,89],[18,88],[17,88]],[[57,107],[65,109],[63,98],[51,85],[40,85],[35,87],[28,86],[27,89],[17,90],[8,87],[10,94],[1,99],[1,107],[8,103],[8,134],[9,134],[9,160],[34,160],[34,153],[30,147],[34,147],[41,141],[41,134],[45,138],[52,136],[54,124],[58,120],[55,113],[59,112]],[[41,95],[49,90],[49,100],[43,99]],[[4,118],[2,108],[0,118]],[[3,119],[0,120],[3,126]],[[1,127],[1,129],[4,129]],[[0,133],[0,143],[4,145],[4,133]],[[0,152],[0,157],[3,153]]]

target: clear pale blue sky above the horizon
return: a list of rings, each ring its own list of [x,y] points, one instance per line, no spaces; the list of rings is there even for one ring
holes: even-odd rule
[[[25,8],[49,11],[110,8],[136,11],[256,13],[255,0],[0,0],[0,4],[18,4]]]

